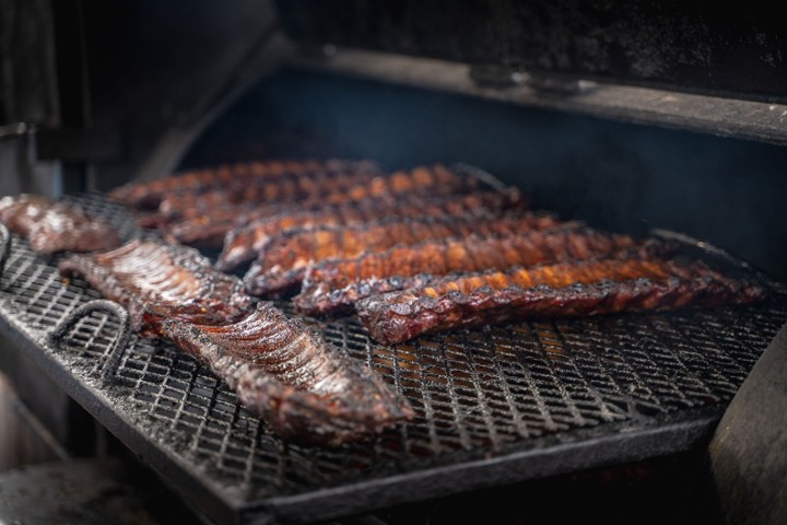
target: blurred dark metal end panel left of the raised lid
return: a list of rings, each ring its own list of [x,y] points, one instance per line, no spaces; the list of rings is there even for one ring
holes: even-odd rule
[[[101,189],[169,173],[223,106],[286,54],[268,0],[81,7],[94,121],[122,130],[122,162],[96,166]]]

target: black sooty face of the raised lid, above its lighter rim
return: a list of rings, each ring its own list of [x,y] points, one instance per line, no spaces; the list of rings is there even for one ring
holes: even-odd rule
[[[512,71],[785,100],[784,30],[768,9],[655,1],[279,1],[296,40]]]

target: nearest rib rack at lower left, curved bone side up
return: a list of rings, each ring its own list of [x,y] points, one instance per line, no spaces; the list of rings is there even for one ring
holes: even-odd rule
[[[284,439],[334,446],[414,417],[381,377],[272,303],[236,324],[167,320],[163,331]]]

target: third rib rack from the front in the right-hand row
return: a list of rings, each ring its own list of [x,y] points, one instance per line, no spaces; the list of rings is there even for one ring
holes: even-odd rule
[[[363,252],[415,244],[427,238],[472,233],[502,235],[551,228],[557,220],[542,213],[478,214],[396,219],[344,226],[321,226],[285,232],[270,241],[244,276],[252,295],[282,294],[296,287],[306,268],[322,260],[346,258]]]

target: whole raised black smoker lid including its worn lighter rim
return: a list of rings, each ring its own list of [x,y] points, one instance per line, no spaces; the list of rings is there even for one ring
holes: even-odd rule
[[[278,1],[283,65],[787,145],[768,10],[649,0]]]

